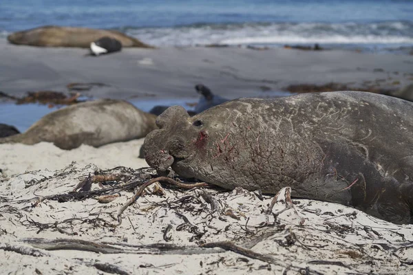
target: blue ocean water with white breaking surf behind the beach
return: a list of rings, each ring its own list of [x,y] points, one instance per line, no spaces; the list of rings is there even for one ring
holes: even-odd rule
[[[41,25],[127,32],[157,46],[313,45],[410,52],[411,0],[1,0],[0,36]]]

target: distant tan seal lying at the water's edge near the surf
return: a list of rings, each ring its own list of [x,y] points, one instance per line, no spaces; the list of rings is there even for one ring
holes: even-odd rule
[[[89,28],[44,26],[14,32],[7,39],[17,45],[30,45],[40,47],[89,47],[90,43],[102,37],[116,39],[123,47],[151,47],[115,30],[96,30]]]

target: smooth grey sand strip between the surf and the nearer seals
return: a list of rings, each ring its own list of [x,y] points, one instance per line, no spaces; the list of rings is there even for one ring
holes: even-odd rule
[[[87,50],[10,45],[0,40],[1,91],[67,91],[70,83],[103,83],[94,98],[196,98],[203,83],[226,98],[271,96],[292,84],[344,83],[400,89],[413,81],[413,56],[283,48],[163,47],[124,49],[98,58]]]

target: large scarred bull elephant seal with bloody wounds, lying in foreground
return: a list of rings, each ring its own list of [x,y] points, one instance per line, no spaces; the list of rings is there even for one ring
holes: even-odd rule
[[[145,159],[232,189],[341,203],[412,223],[413,104],[357,91],[242,98],[203,113],[171,107]]]

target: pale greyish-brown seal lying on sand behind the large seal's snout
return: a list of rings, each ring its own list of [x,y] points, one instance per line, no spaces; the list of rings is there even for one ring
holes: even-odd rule
[[[83,102],[49,113],[19,135],[1,143],[53,142],[62,149],[88,144],[95,147],[145,137],[156,129],[156,115],[136,109],[123,100]]]

